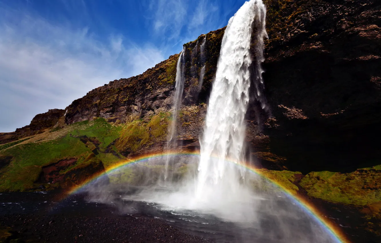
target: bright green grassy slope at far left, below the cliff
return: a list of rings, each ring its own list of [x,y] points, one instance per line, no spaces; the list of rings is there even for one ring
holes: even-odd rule
[[[83,173],[83,170],[91,168],[90,171],[96,172],[104,165],[121,159],[118,153],[112,153],[115,149],[111,145],[121,129],[120,126],[100,118],[79,122],[64,129],[45,131],[28,139],[2,145],[0,190],[34,190],[41,184],[52,187],[41,181],[43,167],[62,160],[75,162],[58,171],[59,176],[63,176],[65,181],[61,180],[53,187],[65,184],[69,176],[73,182],[81,180],[76,176]]]

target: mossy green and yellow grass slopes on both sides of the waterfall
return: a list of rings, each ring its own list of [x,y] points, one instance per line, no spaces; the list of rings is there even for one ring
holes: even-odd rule
[[[123,124],[97,118],[3,144],[0,146],[0,191],[66,188],[78,184],[124,160],[123,154],[142,154],[165,142],[169,123],[170,113],[154,114],[145,120],[131,118]],[[156,180],[162,169],[160,166],[126,168],[117,177],[110,175],[110,181],[147,183]],[[142,177],[147,171],[155,178]],[[180,179],[184,171],[187,166],[180,167],[176,177]],[[261,169],[259,172],[294,195],[301,193],[301,187],[310,197],[365,206],[373,211],[381,201],[380,166],[346,174],[321,171],[306,176],[292,171]]]

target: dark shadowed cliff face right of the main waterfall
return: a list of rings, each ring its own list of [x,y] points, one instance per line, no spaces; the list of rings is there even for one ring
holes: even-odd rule
[[[302,172],[378,164],[381,3],[267,2],[272,152]]]

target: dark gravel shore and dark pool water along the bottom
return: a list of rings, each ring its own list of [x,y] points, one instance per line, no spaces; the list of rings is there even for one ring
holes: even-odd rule
[[[11,232],[17,242],[291,242],[297,232],[308,232],[319,225],[308,217],[287,221],[295,231],[282,232],[277,220],[263,214],[261,231],[255,227],[225,222],[213,215],[192,211],[172,211],[155,203],[133,201],[118,193],[112,203],[91,202],[87,195],[72,195],[58,200],[55,192],[0,193],[0,231]],[[295,210],[293,206],[277,207]],[[342,227],[352,242],[377,242],[351,228],[359,220],[352,208],[320,205],[327,217]],[[347,215],[343,217],[343,215]],[[300,215],[300,213],[299,213]],[[258,225],[257,225],[258,226]],[[264,230],[263,230],[264,229]],[[284,231],[284,229],[283,229]],[[360,233],[359,233],[360,232]],[[319,232],[318,232],[319,233]],[[1,234],[0,234],[1,237]],[[303,238],[296,238],[307,242]],[[329,238],[308,242],[333,242]],[[1,240],[0,240],[1,241]]]

